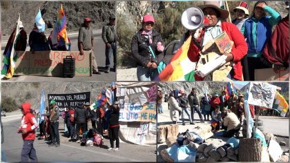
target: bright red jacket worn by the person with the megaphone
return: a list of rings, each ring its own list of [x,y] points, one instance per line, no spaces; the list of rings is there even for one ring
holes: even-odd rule
[[[222,31],[226,31],[226,34],[229,35],[231,41],[233,41],[233,48],[231,54],[233,55],[233,62],[235,66],[233,67],[233,77],[238,80],[242,80],[242,64],[241,59],[247,55],[248,46],[246,41],[244,41],[244,36],[240,30],[233,23],[222,22]],[[202,31],[204,35],[204,30]],[[199,55],[200,50],[193,44],[191,40],[191,46],[189,48],[188,54],[191,61],[198,61],[200,59]],[[195,75],[195,80],[203,80],[202,77]]]

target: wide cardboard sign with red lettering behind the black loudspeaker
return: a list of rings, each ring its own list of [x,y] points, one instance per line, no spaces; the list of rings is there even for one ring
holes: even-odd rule
[[[66,56],[75,58],[75,76],[88,77],[92,75],[90,68],[91,54],[84,51],[84,55],[79,55],[79,51],[17,51],[17,61],[15,61],[14,75],[38,75],[62,77],[63,59]]]

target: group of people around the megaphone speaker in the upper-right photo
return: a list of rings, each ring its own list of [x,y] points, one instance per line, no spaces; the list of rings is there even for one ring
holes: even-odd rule
[[[242,1],[233,9],[233,22],[226,22],[229,11],[218,6],[218,1],[198,6],[209,19],[209,25],[201,30],[189,30],[180,39],[181,47],[189,35],[196,34],[188,51],[191,61],[199,61],[202,47],[225,31],[233,41],[231,52],[222,53],[233,67],[227,76],[229,79],[253,81],[256,69],[273,67],[278,73],[289,67],[289,15],[281,20],[280,14],[267,6],[266,1],[257,1],[249,15],[249,5]],[[159,75],[158,66],[164,58],[162,35],[153,28],[154,24],[153,16],[145,15],[142,29],[132,39],[131,51],[137,61],[139,81],[153,81]],[[273,26],[276,30],[272,34]],[[195,80],[206,80],[196,74],[194,77]]]

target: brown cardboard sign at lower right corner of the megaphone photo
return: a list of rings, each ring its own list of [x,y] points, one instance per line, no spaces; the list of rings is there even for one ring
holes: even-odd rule
[[[289,68],[275,73],[273,68],[255,70],[255,81],[289,81]]]

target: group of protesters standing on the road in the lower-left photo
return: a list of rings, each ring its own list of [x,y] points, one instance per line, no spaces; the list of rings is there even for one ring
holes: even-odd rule
[[[90,104],[86,102],[84,105],[79,104],[77,108],[69,108],[64,111],[64,124],[68,128],[68,140],[76,140],[77,143],[84,141],[87,143],[90,138],[89,133],[95,133],[103,136],[103,126],[108,129],[108,137],[110,139],[110,148],[108,151],[119,151],[119,106],[117,103],[108,107],[106,115],[103,111],[103,107],[91,110]],[[46,113],[35,114],[35,111],[31,108],[30,102],[23,103],[21,105],[21,111],[23,117],[21,120],[21,126],[17,130],[17,133],[21,133],[23,137],[23,148],[21,152],[21,162],[28,162],[28,158],[31,161],[37,162],[36,150],[33,146],[35,140],[35,130],[39,126],[39,133],[42,139],[48,140],[50,143],[48,146],[60,146],[59,139],[59,107],[56,105],[55,100],[50,102],[49,108],[46,108]],[[44,116],[45,119],[40,120]],[[106,118],[105,118],[106,116]],[[80,132],[82,133],[82,139],[80,138]],[[114,148],[114,141],[116,140],[116,147]],[[95,140],[91,140],[92,142]],[[102,140],[101,144],[102,145]],[[92,145],[93,146],[93,145]]]

